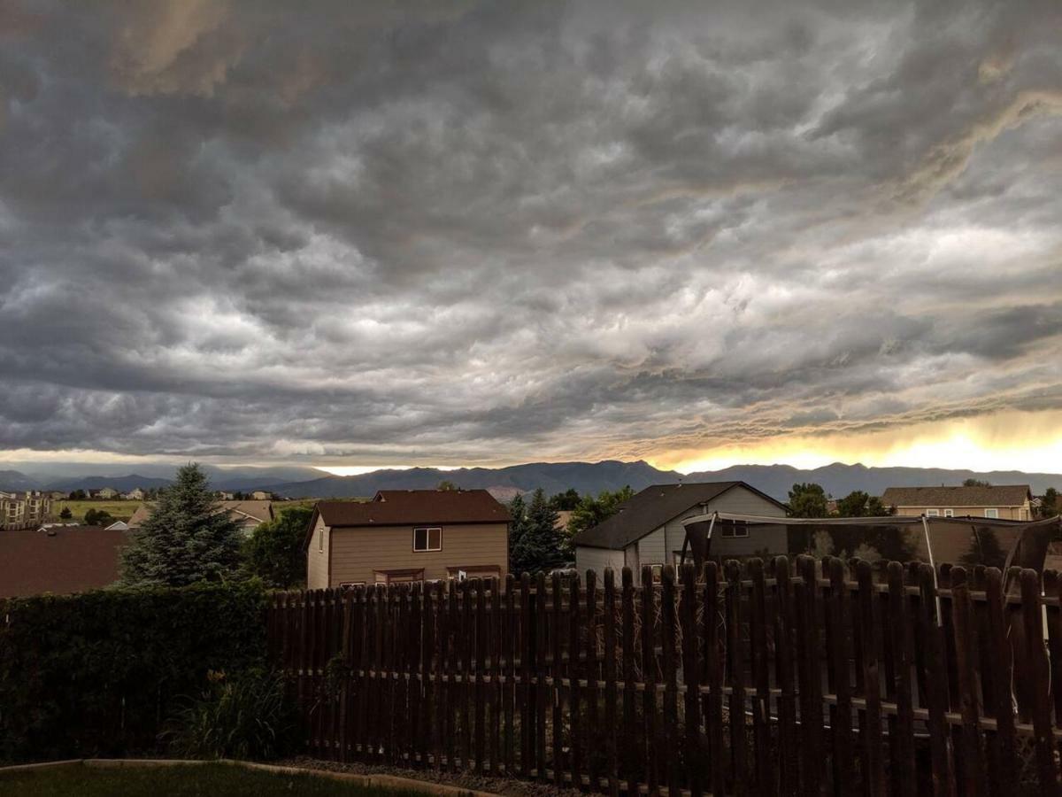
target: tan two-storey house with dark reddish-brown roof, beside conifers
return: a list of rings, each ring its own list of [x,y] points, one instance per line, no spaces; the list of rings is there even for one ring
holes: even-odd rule
[[[380,490],[370,502],[319,502],[305,547],[311,590],[501,578],[509,512],[486,490]]]

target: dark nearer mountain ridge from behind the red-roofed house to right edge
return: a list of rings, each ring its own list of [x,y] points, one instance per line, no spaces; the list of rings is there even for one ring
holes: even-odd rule
[[[847,495],[853,490],[866,490],[880,495],[888,487],[929,487],[933,485],[961,485],[963,479],[978,478],[993,485],[1024,485],[1034,493],[1048,487],[1062,490],[1062,475],[1049,473],[1022,473],[1020,471],[949,471],[926,468],[867,468],[840,462],[801,470],[791,465],[735,465],[721,471],[702,471],[683,475],[675,471],[661,471],[647,462],[534,462],[510,468],[463,468],[441,471],[435,468],[413,468],[408,471],[381,470],[357,476],[324,476],[308,481],[282,482],[264,489],[281,495],[304,498],[353,498],[373,495],[377,490],[430,489],[448,480],[461,488],[483,488],[498,494],[514,490],[529,492],[543,488],[548,494],[575,488],[580,493],[597,494],[601,490],[619,490],[630,485],[641,490],[650,485],[664,485],[679,480],[692,481],[747,481],[780,501],[785,501],[789,489],[798,481],[815,481],[835,497]],[[507,489],[504,493],[501,491]]]

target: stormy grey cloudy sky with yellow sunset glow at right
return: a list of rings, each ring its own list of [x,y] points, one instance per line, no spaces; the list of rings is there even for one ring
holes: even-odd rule
[[[0,462],[1062,471],[1060,36],[0,0]]]

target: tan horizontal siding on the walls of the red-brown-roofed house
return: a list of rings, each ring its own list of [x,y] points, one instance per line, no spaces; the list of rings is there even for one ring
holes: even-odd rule
[[[442,550],[414,552],[413,526],[355,526],[330,529],[328,586],[373,583],[377,571],[424,569],[426,580],[445,579],[448,567],[496,566],[508,573],[509,527],[504,523],[438,524]],[[310,541],[313,553],[315,541]],[[329,545],[326,545],[326,550]]]

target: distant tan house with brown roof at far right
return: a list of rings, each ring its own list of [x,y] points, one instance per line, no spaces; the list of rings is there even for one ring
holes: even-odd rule
[[[895,507],[901,515],[1029,521],[1034,514],[1028,485],[890,487],[881,494],[881,502]]]

